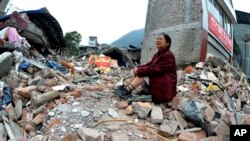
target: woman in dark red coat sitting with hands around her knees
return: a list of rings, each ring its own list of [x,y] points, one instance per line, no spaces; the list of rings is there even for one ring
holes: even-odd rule
[[[176,65],[174,54],[169,50],[171,38],[161,33],[156,39],[158,52],[152,60],[133,69],[134,78],[126,86],[119,86],[115,94],[121,97],[131,97],[131,91],[136,87],[148,83],[148,93],[154,103],[164,103],[173,99],[176,95]]]

